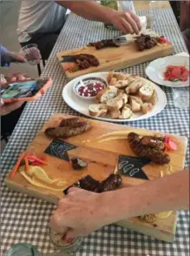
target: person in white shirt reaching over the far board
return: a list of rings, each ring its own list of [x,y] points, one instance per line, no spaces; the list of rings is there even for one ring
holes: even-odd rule
[[[132,11],[113,10],[95,1],[23,0],[17,28],[19,43],[22,46],[37,44],[43,59],[48,59],[62,30],[67,9],[88,20],[114,24],[125,34],[138,34],[141,30],[140,20]]]

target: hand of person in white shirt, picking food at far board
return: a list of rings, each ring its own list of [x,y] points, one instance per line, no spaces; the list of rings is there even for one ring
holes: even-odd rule
[[[111,23],[121,30],[124,34],[139,34],[141,31],[141,22],[132,11],[115,11],[111,17]]]

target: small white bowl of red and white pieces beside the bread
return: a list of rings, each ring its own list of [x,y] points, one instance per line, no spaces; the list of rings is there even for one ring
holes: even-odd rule
[[[93,99],[99,91],[102,91],[107,86],[107,82],[101,77],[88,77],[74,84],[73,91],[79,98]],[[101,90],[100,87],[102,88]]]

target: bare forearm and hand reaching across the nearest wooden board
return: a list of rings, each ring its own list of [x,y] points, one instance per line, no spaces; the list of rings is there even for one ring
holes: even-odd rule
[[[189,170],[142,185],[97,194],[71,188],[60,200],[50,226],[66,239],[86,235],[102,226],[146,213],[189,208]]]

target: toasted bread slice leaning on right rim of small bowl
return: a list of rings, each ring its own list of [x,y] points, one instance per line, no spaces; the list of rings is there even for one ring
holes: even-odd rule
[[[95,97],[95,102],[106,104],[109,99],[115,98],[118,89],[115,86],[108,86],[107,88],[99,91]]]

